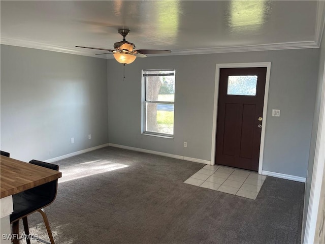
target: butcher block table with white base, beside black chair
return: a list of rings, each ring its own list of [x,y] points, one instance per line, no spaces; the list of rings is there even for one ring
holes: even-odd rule
[[[3,237],[11,233],[9,216],[13,212],[12,195],[58,179],[62,173],[5,156],[0,156],[0,172],[0,243],[11,243],[11,240]]]

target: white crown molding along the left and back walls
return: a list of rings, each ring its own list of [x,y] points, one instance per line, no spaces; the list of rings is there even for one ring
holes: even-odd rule
[[[321,36],[321,34],[318,34]],[[67,48],[55,45],[47,45],[40,42],[18,40],[11,38],[1,38],[0,43],[4,45],[27,47],[42,49],[54,52],[63,52],[70,54],[77,54],[83,56],[94,57],[93,53],[85,53],[83,49],[75,50],[74,48]],[[192,55],[192,54],[213,54],[213,53],[228,53],[228,52],[252,52],[252,51],[269,51],[269,50],[285,50],[285,49],[304,49],[304,48],[319,48],[319,44],[315,41],[305,42],[287,42],[287,43],[274,43],[274,44],[261,44],[261,45],[247,45],[247,46],[232,46],[232,47],[216,47],[216,48],[197,48],[187,50],[173,50],[169,54],[151,54],[149,56],[171,56],[171,55]],[[110,59],[113,56],[96,56],[97,58]]]

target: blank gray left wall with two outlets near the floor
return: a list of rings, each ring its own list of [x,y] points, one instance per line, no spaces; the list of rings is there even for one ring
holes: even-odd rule
[[[29,161],[107,143],[106,65],[100,58],[1,45],[1,149]]]

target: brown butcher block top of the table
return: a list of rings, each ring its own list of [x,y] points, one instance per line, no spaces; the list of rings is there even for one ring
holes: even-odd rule
[[[58,179],[62,173],[42,166],[0,156],[1,198],[23,192]]]

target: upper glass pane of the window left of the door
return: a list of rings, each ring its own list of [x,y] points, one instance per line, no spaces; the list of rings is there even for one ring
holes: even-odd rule
[[[146,100],[174,102],[175,76],[147,76]]]

